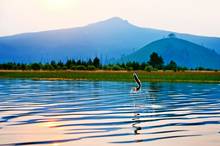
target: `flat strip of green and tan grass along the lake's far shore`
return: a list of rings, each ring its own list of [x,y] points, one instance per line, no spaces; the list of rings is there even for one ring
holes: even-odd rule
[[[0,78],[36,80],[107,80],[133,81],[129,71],[0,71]],[[141,81],[161,82],[216,82],[220,72],[145,72],[138,71]]]

